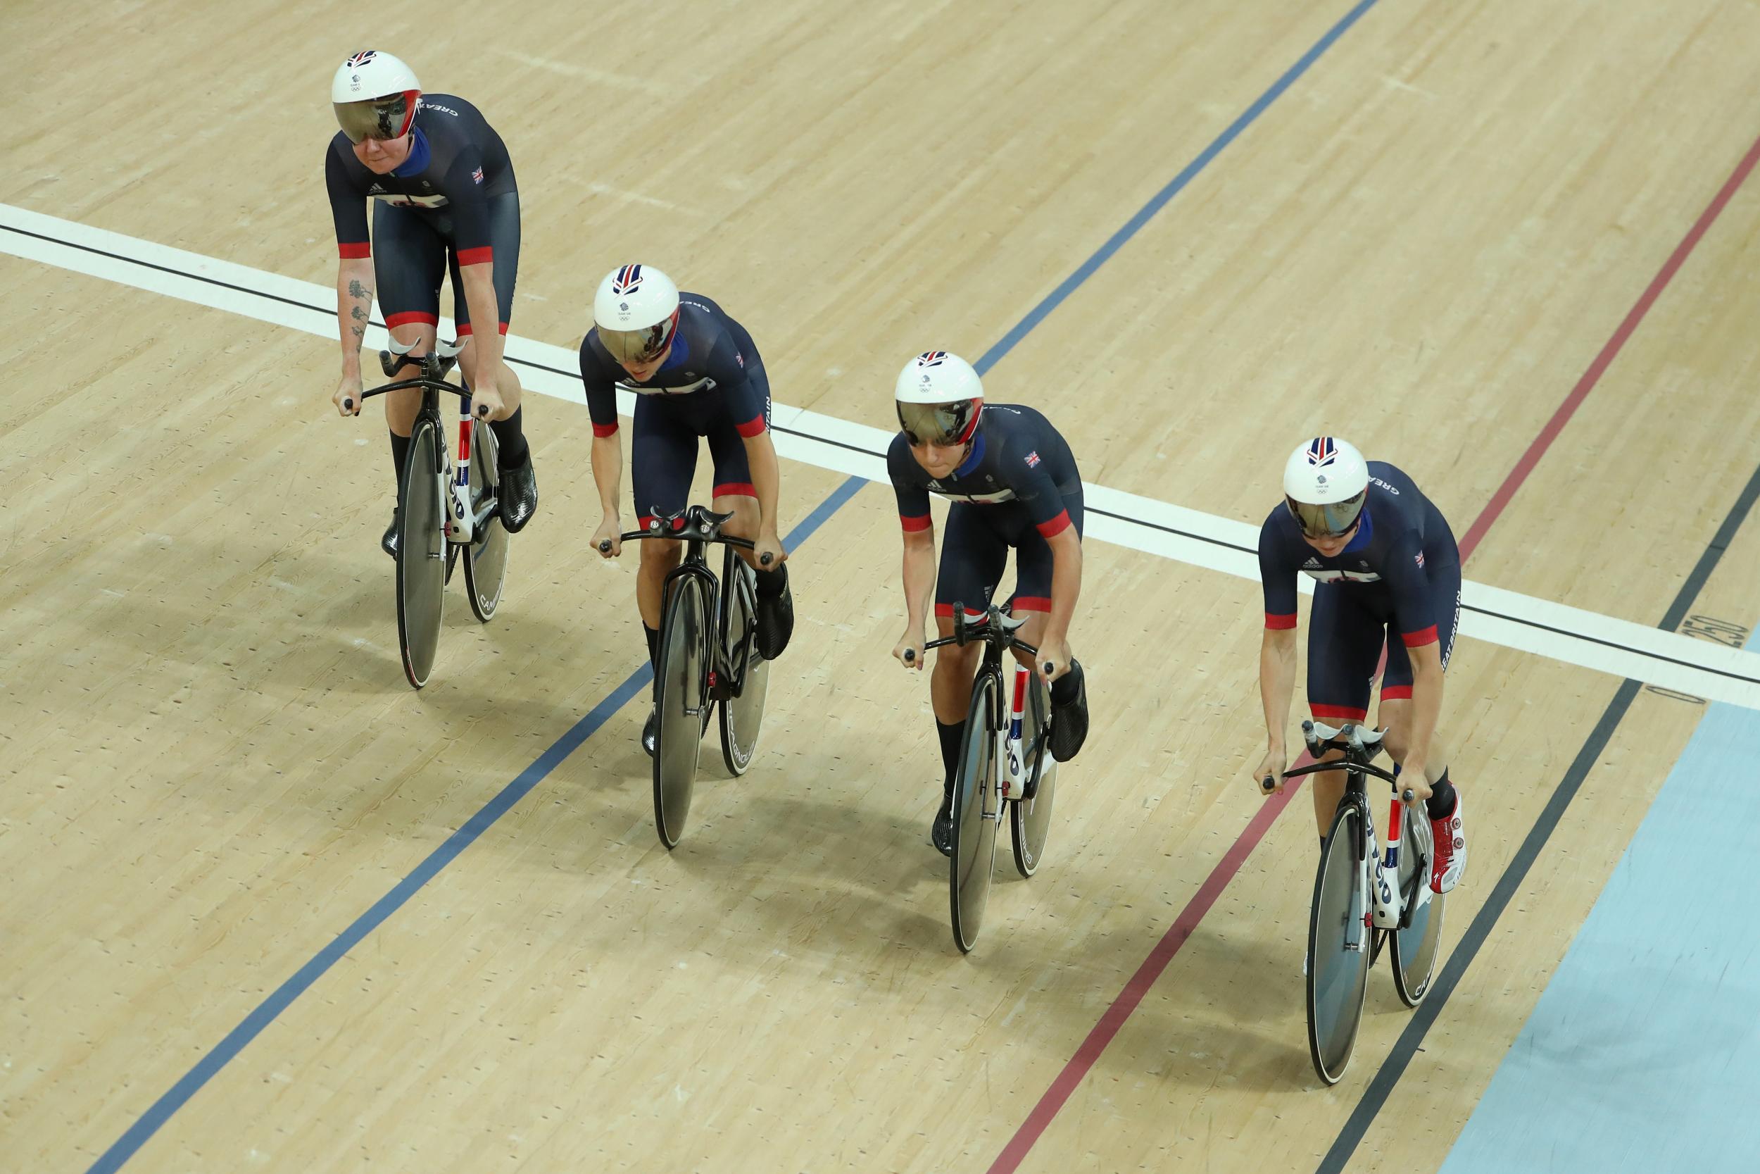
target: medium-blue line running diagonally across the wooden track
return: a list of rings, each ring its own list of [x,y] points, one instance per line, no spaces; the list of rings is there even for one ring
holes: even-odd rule
[[[1135,216],[1132,216],[1123,229],[1114,232],[1105,245],[1095,252],[1093,257],[1082,262],[1075,273],[1063,280],[1058,289],[1054,289],[1044,301],[1033,306],[1031,313],[1021,319],[1014,329],[1003,334],[1001,341],[984,352],[984,356],[973,364],[982,375],[989,371],[996,363],[1008,354],[1023,338],[1026,338],[1033,327],[1045,320],[1045,317],[1058,308],[1082,282],[1086,282],[1093,273],[1105,264],[1112,253],[1116,253],[1125,241],[1137,234],[1144,224],[1149,222],[1155,213],[1158,213],[1174,195],[1177,195],[1192,180],[1204,171],[1211,160],[1214,160],[1223,148],[1227,148],[1248,125],[1251,125],[1265,109],[1281,95],[1290,84],[1301,77],[1308,69],[1320,58],[1334,40],[1345,35],[1345,32],[1357,23],[1357,19],[1375,7],[1376,0],[1360,0],[1357,7],[1345,14],[1345,18],[1334,25],[1327,33],[1315,42],[1308,53],[1304,53],[1295,65],[1292,65],[1269,90],[1258,95],[1246,111],[1236,118],[1227,130],[1223,130],[1214,143],[1204,148],[1197,158],[1193,158],[1186,167],[1174,176],[1174,180],[1156,192],[1155,199],[1144,204]],[[785,546],[794,551],[806,539],[810,539],[825,521],[831,519],[855,491],[861,489],[868,481],[864,477],[850,477],[841,486],[831,491],[824,502],[820,502],[811,514],[808,514],[801,525],[788,532],[783,540]],[[172,1084],[164,1097],[153,1102],[153,1105],[141,1114],[141,1118],[130,1125],[116,1142],[106,1149],[97,1162],[93,1162],[86,1174],[113,1174],[120,1170],[121,1165],[132,1158],[141,1146],[158,1132],[158,1128],[171,1119],[171,1116],[181,1109],[188,1100],[204,1086],[215,1074],[220,1072],[227,1063],[238,1056],[246,1044],[257,1038],[266,1026],[269,1026],[289,1005],[301,994],[304,994],[313,982],[317,982],[324,973],[336,965],[350,949],[359,945],[366,935],[377,929],[387,917],[403,908],[405,903],[422,885],[433,880],[440,869],[451,864],[465,848],[468,848],[482,833],[495,825],[516,803],[526,797],[526,794],[537,787],[556,766],[561,764],[570,753],[574,753],[581,743],[591,737],[600,725],[604,725],[612,713],[628,704],[648,683],[653,679],[651,669],[644,664],[641,669],[632,672],[618,688],[611,692],[609,697],[600,701],[593,709],[576,722],[568,732],[558,737],[549,750],[540,753],[532,766],[521,771],[514,781],[507,783],[489,803],[477,811],[470,820],[465,822],[456,833],[452,833],[444,845],[435,848],[428,859],[415,866],[415,869],[400,880],[396,887],[382,896],[370,910],[361,914],[347,929],[343,929],[336,940],[319,950],[312,961],[294,972],[282,986],[275,989],[269,998],[266,998],[255,1010],[252,1010],[245,1019],[232,1028],[225,1038],[222,1038],[213,1051],[202,1056],[194,1068],[190,1068],[176,1084]]]

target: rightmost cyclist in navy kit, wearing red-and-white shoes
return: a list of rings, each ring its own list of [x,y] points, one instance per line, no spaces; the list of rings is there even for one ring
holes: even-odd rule
[[[1308,628],[1308,708],[1327,722],[1369,713],[1376,658],[1387,648],[1382,706],[1396,771],[1424,799],[1436,840],[1431,891],[1448,892],[1466,871],[1461,792],[1436,737],[1443,671],[1461,621],[1461,551],[1412,479],[1364,461],[1350,444],[1316,437],[1283,466],[1283,505],[1258,532],[1265,635],[1258,693],[1265,706],[1265,759],[1253,780],[1276,778],[1290,759],[1283,730],[1295,690],[1295,574],[1316,579]],[[1396,639],[1397,637],[1397,639]],[[1315,818],[1325,838],[1345,794],[1338,771],[1315,774]]]

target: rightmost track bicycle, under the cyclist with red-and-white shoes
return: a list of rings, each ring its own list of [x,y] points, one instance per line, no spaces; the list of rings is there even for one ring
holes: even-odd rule
[[[1429,887],[1431,824],[1424,811],[1408,810],[1417,801],[1412,789],[1401,792],[1397,774],[1375,766],[1382,734],[1352,723],[1332,729],[1302,722],[1309,755],[1341,750],[1343,757],[1283,773],[1295,778],[1345,771],[1345,796],[1320,848],[1308,919],[1308,1054],[1327,1084],[1336,1084],[1350,1065],[1369,968],[1382,949],[1389,947],[1399,1002],[1417,1007],[1429,991],[1441,942],[1445,901]],[[1385,847],[1369,815],[1369,774],[1394,789]],[[1274,785],[1272,778],[1262,780],[1265,790]]]

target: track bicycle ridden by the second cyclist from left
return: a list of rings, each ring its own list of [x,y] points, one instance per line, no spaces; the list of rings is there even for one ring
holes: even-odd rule
[[[730,517],[692,505],[620,535],[621,542],[685,544],[685,560],[667,574],[660,595],[655,665],[655,827],[667,848],[685,834],[709,709],[720,702],[722,760],[734,776],[752,766],[764,725],[769,662],[757,648],[757,574],[736,551],[750,551],[752,542],[722,533]],[[704,556],[711,542],[723,547],[720,579]],[[609,553],[611,540],[598,549]]]

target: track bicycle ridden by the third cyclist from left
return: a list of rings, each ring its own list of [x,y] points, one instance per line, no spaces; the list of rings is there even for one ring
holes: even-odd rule
[[[984,924],[991,873],[996,861],[996,827],[1003,806],[1014,840],[1014,868],[1031,877],[1051,833],[1051,804],[1058,787],[1058,759],[1051,753],[1051,693],[1023,664],[1014,665],[1008,701],[1003,701],[1003,653],[1017,648],[1030,658],[1038,649],[1016,635],[1024,618],[991,604],[984,613],[966,613],[954,604],[954,634],[924,644],[984,644],[984,660],[972,681],[966,734],[954,774],[954,850],[949,855],[947,903],[959,952],[970,952]],[[913,660],[906,649],[906,664]]]

